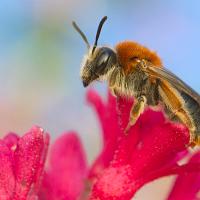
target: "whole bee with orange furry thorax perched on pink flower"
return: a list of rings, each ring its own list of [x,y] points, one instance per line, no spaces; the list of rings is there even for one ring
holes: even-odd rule
[[[135,99],[125,132],[136,123],[146,106],[158,107],[161,104],[169,120],[188,127],[190,145],[200,145],[199,94],[163,67],[154,51],[136,42],[120,42],[114,49],[98,46],[106,19],[105,16],[100,21],[92,46],[73,22],[88,48],[81,67],[83,86],[95,80],[105,80],[114,95]]]

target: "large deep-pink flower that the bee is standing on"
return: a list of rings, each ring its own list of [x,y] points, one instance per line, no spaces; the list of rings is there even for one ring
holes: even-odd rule
[[[102,153],[90,170],[97,179],[90,199],[128,200],[154,179],[200,169],[198,165],[178,164],[189,143],[189,132],[183,125],[172,124],[162,112],[148,109],[125,135],[132,101],[119,99],[116,103],[109,96],[108,102],[103,103],[93,91],[88,99],[104,130]]]

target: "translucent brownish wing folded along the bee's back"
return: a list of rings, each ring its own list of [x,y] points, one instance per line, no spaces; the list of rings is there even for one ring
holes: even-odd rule
[[[170,83],[174,88],[176,88],[178,91],[183,91],[189,96],[191,96],[193,99],[195,99],[197,102],[200,103],[200,96],[199,94],[194,91],[190,86],[188,86],[186,83],[184,83],[180,78],[178,78],[175,74],[170,72],[166,68],[159,68],[154,66],[147,66],[145,69],[147,74],[150,76],[159,78],[160,80],[165,80],[168,83]]]

